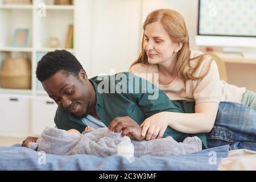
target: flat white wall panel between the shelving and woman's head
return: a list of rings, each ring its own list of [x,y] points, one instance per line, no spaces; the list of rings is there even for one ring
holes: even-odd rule
[[[127,71],[139,53],[141,1],[94,0],[92,74]]]

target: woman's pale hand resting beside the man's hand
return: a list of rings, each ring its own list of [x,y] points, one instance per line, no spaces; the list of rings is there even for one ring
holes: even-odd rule
[[[141,124],[143,137],[146,136],[146,140],[159,139],[163,137],[164,131],[168,127],[168,122],[170,117],[168,117],[168,112],[161,112],[151,115],[144,120]]]

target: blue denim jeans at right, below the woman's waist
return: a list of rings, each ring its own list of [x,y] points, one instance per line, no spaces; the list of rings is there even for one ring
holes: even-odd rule
[[[233,102],[220,102],[208,147],[229,144],[230,150],[256,151],[256,109]]]

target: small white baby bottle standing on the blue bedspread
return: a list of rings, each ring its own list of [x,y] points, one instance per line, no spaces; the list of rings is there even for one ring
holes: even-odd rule
[[[130,163],[134,162],[134,145],[129,137],[125,136],[121,139],[117,146],[117,155],[123,156]]]

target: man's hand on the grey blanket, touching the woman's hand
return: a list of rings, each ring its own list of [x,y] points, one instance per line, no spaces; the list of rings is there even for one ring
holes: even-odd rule
[[[130,117],[119,117],[113,119],[113,121],[109,125],[108,131],[114,131],[115,133],[118,133],[122,130],[121,136],[128,136],[131,139],[137,139],[137,140],[143,140],[145,137],[142,137],[141,126],[138,125],[137,122],[135,122]]]

